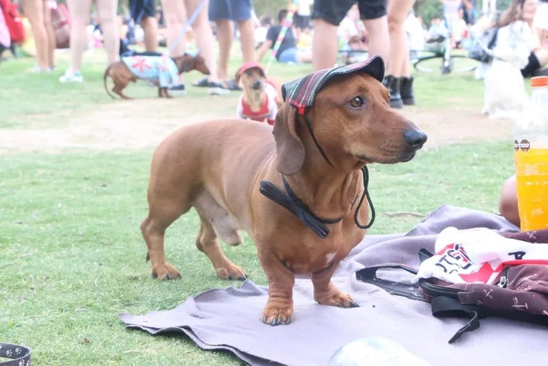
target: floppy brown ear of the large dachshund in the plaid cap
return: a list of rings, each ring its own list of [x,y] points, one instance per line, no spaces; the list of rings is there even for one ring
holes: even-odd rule
[[[276,114],[273,135],[276,140],[277,169],[290,176],[296,174],[305,161],[305,147],[297,134],[297,108],[285,103]]]

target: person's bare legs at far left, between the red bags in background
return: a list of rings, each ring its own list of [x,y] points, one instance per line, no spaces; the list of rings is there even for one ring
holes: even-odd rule
[[[22,0],[23,13],[28,18],[36,47],[36,65],[33,72],[51,72],[55,69],[55,31],[51,23],[52,0]]]

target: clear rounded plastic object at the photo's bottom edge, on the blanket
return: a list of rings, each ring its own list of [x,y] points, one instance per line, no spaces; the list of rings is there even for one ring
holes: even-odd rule
[[[339,348],[327,366],[431,366],[401,344],[382,337],[352,340]]]

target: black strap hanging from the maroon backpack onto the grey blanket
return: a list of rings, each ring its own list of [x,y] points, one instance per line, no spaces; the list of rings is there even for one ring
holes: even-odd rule
[[[481,310],[475,305],[463,305],[454,297],[437,296],[430,300],[434,317],[468,317],[468,322],[457,331],[449,343],[461,338],[465,332],[479,328],[479,318],[483,317]]]

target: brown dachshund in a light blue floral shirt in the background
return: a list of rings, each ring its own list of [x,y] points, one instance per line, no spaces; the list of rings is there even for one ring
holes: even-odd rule
[[[146,80],[153,85],[158,85],[158,97],[171,98],[168,88],[178,82],[179,74],[198,70],[202,74],[209,75],[209,69],[205,61],[199,54],[192,56],[185,53],[183,56],[169,57],[162,53],[136,54],[135,56],[122,57],[121,60],[110,64],[103,75],[105,90],[114,98],[107,87],[107,77],[114,81],[112,91],[123,99],[131,99],[123,94],[123,88],[126,88],[130,81],[137,79]]]

